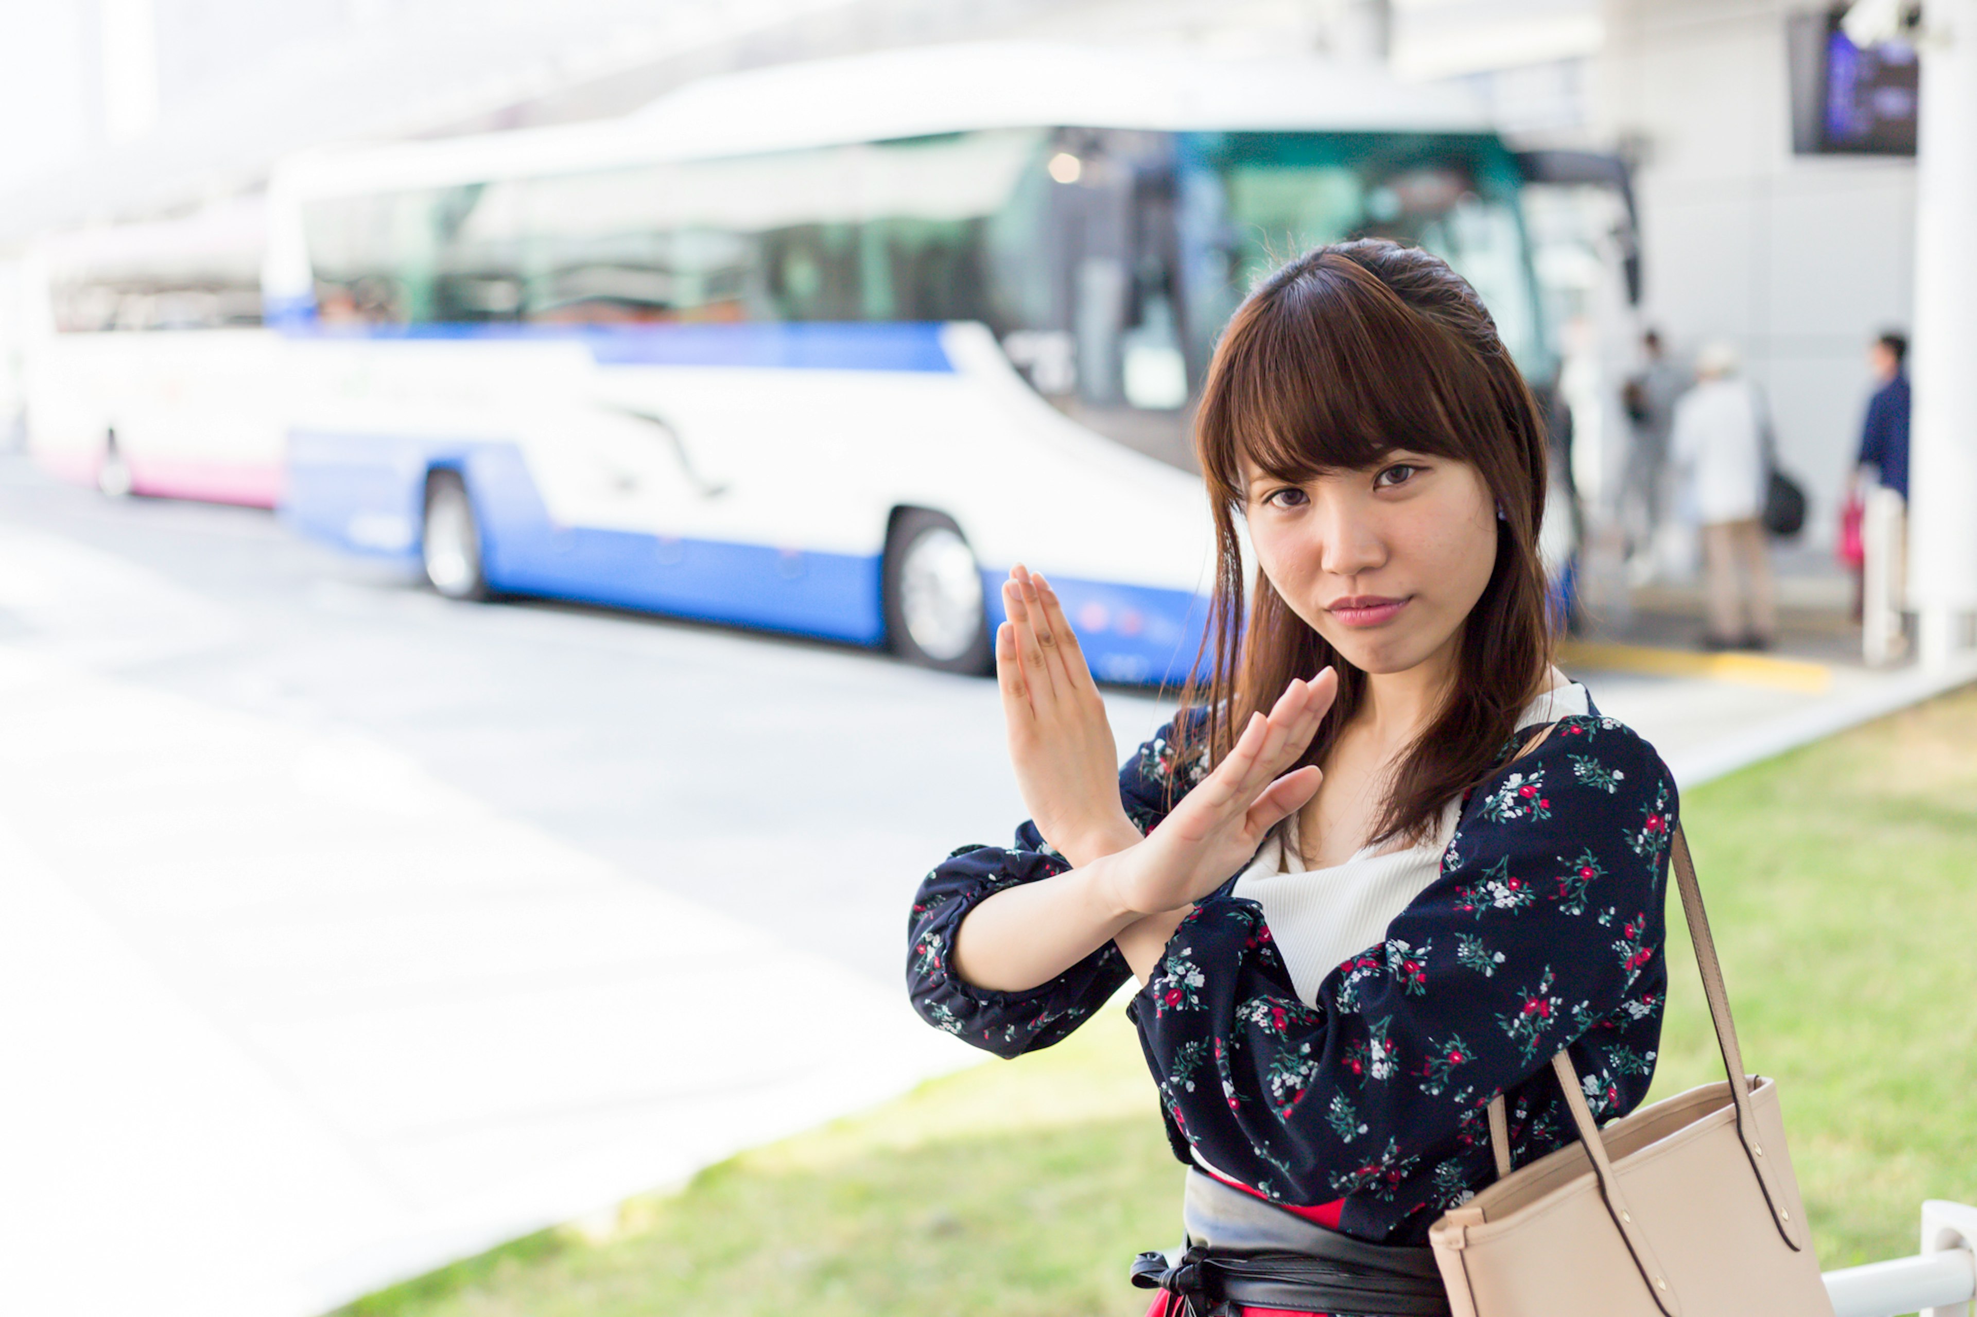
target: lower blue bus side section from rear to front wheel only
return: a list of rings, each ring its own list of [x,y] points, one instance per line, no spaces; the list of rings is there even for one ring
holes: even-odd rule
[[[492,589],[856,645],[884,639],[878,556],[558,526],[514,443],[297,431],[283,510],[314,538],[415,562],[435,467],[467,483]]]

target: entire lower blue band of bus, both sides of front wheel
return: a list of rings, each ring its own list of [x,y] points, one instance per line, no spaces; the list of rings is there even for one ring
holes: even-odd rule
[[[488,585],[518,595],[882,645],[882,562],[633,530],[556,526],[514,443],[293,431],[283,516],[350,552],[419,562],[425,483],[459,471],[480,526]],[[1000,571],[983,571],[1002,621]],[[1178,684],[1200,647],[1206,599],[1182,589],[1052,575],[1091,670]]]

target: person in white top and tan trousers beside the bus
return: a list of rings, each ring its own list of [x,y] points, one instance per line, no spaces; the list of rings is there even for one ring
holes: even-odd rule
[[[1708,577],[1704,649],[1769,649],[1777,635],[1763,510],[1763,403],[1738,376],[1736,348],[1712,342],[1696,386],[1675,403],[1671,455],[1702,522]]]

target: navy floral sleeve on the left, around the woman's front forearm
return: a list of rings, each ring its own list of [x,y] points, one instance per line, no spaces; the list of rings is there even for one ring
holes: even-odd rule
[[[1198,781],[1198,771],[1180,771],[1176,763],[1174,726],[1168,726],[1119,769],[1119,801],[1141,833]],[[1119,991],[1131,969],[1109,941],[1026,993],[981,989],[949,969],[955,931],[969,912],[1002,888],[1056,878],[1068,868],[1026,821],[1014,846],[963,846],[925,876],[907,923],[905,963],[907,993],[923,1020],[996,1056],[1018,1056],[1060,1042]]]

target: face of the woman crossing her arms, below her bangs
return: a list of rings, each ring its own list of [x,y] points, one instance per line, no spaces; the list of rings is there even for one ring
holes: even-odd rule
[[[1475,467],[1390,451],[1289,484],[1244,463],[1263,575],[1362,672],[1453,664],[1497,566],[1497,504]]]

